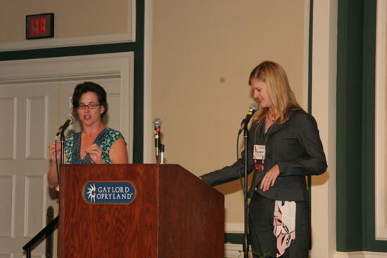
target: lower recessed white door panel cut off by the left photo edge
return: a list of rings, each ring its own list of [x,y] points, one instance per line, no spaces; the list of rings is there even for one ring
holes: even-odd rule
[[[0,176],[0,207],[0,238],[13,238],[15,176]]]

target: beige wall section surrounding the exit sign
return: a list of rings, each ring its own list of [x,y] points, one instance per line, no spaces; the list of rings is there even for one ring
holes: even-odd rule
[[[131,28],[128,0],[0,1],[0,43],[25,41],[25,15],[55,13],[56,39],[123,34]]]

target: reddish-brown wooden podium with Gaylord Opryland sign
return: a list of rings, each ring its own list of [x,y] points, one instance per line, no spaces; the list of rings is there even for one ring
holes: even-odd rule
[[[93,202],[120,182],[129,204]],[[60,258],[224,257],[224,196],[179,165],[63,165],[60,186]]]

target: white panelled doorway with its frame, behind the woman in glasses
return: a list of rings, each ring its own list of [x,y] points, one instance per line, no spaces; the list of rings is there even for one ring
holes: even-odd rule
[[[127,143],[131,142],[132,72],[128,69],[131,55],[111,56],[102,55],[99,62],[95,61],[95,56],[85,57],[85,60],[56,58],[56,67],[52,59],[41,68],[32,62],[37,72],[31,82],[26,79],[18,82],[20,77],[14,76],[15,82],[8,83],[11,79],[7,78],[7,83],[1,83],[1,77],[7,74],[1,75],[0,64],[0,258],[22,258],[23,245],[46,226],[47,207],[53,206],[55,214],[58,213],[56,191],[49,189],[46,182],[47,146],[70,115],[70,98],[77,84],[91,81],[106,89],[109,105],[106,125],[121,131]],[[107,68],[101,76],[99,72],[105,69],[105,60]],[[21,63],[20,66],[17,62],[15,74],[31,67],[28,61]],[[63,76],[63,67],[77,65],[80,68],[76,72],[69,70],[68,75]],[[9,66],[8,63],[4,65],[6,69]],[[51,74],[47,67],[53,67]],[[80,76],[82,67],[84,76]],[[56,71],[61,76],[53,79]],[[43,79],[37,78],[39,72],[44,74]],[[75,124],[67,133],[79,130],[79,125]],[[129,153],[132,153],[129,146]],[[55,244],[56,240],[54,238]],[[45,242],[42,242],[32,250],[32,257],[45,257],[44,252]]]

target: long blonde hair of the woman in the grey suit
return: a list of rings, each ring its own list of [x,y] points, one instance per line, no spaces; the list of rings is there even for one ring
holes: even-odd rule
[[[250,78],[248,79],[250,86],[253,79],[259,79],[261,82],[266,83],[267,93],[272,102],[272,112],[270,115],[278,124],[286,122],[294,110],[303,110],[289,86],[288,76],[284,68],[278,63],[272,61],[260,63],[250,73]],[[260,108],[254,114],[253,120],[264,120],[267,112],[269,112],[269,108]]]

